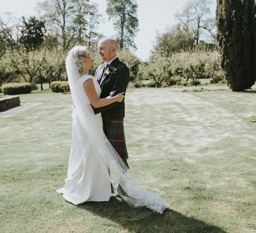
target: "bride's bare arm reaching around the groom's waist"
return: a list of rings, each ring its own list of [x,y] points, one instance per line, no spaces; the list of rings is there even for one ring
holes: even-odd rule
[[[83,86],[84,86],[84,91],[94,108],[104,107],[117,101],[121,102],[124,98],[124,96],[122,95],[123,93],[119,93],[114,97],[99,99],[92,79],[87,79],[84,82]]]

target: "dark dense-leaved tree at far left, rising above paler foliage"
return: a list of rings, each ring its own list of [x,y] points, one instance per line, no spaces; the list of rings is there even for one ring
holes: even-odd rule
[[[30,17],[28,22],[25,17],[22,17],[22,20],[23,25],[21,25],[20,43],[23,44],[27,50],[39,49],[44,40],[45,22],[35,17]]]

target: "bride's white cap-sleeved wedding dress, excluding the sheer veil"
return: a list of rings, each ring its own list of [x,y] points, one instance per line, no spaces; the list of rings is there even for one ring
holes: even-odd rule
[[[81,99],[85,100],[85,104],[88,98],[85,94],[83,83],[90,78],[93,80],[99,98],[101,93],[96,79],[90,75],[81,77],[75,85],[78,86],[78,89],[82,89]],[[86,134],[80,132],[83,136],[79,138],[78,130],[82,126],[77,114],[77,109],[73,110],[73,137],[68,162],[68,177],[65,179],[65,187],[58,189],[57,192],[63,193],[63,198],[75,205],[86,201],[108,201],[111,195],[111,185],[110,177],[106,175],[108,172],[107,165],[101,167],[91,148],[90,138]],[[91,120],[95,125],[94,130],[101,134],[103,132],[101,114],[92,116]],[[79,141],[80,139],[85,151],[81,150],[82,147],[74,147],[73,141]]]

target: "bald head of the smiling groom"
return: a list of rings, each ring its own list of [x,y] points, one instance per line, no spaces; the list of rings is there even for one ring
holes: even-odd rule
[[[111,37],[104,37],[99,41],[98,53],[103,61],[109,62],[116,57],[116,50],[117,43],[115,39]]]

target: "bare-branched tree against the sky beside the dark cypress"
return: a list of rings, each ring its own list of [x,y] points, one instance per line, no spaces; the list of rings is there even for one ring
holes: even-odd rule
[[[199,44],[205,31],[210,33],[211,38],[214,38],[213,30],[216,25],[215,20],[209,17],[211,14],[209,4],[211,0],[191,0],[181,13],[177,12],[175,15],[184,30],[193,33],[196,45]]]

